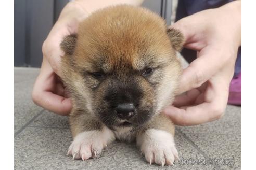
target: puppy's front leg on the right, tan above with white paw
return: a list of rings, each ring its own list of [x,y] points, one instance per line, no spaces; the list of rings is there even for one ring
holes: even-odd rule
[[[174,124],[164,115],[158,115],[138,132],[137,145],[150,164],[173,165],[178,159],[174,143]]]

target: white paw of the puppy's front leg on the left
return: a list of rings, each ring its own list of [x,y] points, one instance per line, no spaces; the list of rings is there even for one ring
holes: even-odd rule
[[[68,155],[72,155],[73,159],[82,160],[97,157],[114,139],[114,133],[106,127],[101,131],[82,132],[75,136],[68,149]]]

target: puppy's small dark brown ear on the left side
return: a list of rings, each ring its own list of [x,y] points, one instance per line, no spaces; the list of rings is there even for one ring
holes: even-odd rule
[[[76,39],[76,34],[71,34],[64,37],[63,41],[60,43],[61,50],[63,50],[67,55],[72,55],[74,52]]]

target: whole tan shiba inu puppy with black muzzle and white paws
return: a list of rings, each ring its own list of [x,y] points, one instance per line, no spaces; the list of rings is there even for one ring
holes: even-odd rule
[[[115,139],[136,139],[150,164],[173,165],[174,125],[161,111],[175,96],[182,45],[182,34],[162,18],[129,5],[100,9],[65,37],[63,81],[73,102],[68,155],[87,160]]]

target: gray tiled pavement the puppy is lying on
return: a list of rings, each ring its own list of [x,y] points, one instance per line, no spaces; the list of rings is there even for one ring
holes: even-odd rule
[[[72,141],[68,117],[46,111],[31,100],[38,74],[37,68],[15,68],[15,169],[241,169],[241,107],[231,105],[220,120],[176,127],[181,160],[172,167],[150,166],[135,144],[119,141],[104,149],[100,158],[72,160],[67,157]],[[210,163],[213,159],[219,163]]]

